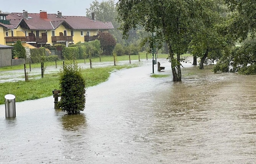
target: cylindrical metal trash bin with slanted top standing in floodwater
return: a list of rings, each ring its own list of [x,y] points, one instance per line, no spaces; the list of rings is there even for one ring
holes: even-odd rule
[[[16,117],[15,96],[6,94],[5,99],[5,117]]]

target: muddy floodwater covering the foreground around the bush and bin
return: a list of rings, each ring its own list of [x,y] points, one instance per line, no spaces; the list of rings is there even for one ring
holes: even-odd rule
[[[16,103],[14,119],[1,105],[0,163],[256,162],[256,76],[187,65],[173,83],[151,71],[145,62],[88,88],[79,116],[52,97]]]

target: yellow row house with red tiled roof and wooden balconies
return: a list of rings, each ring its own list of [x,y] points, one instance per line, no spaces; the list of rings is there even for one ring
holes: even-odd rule
[[[24,47],[35,48],[58,43],[75,44],[93,41],[98,33],[113,29],[111,22],[101,22],[84,16],[62,16],[39,13],[0,13],[0,44],[13,45],[18,40]]]

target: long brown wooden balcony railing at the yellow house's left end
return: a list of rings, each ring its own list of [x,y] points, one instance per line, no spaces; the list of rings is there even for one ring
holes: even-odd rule
[[[34,36],[7,36],[5,37],[6,43],[13,43],[13,42],[36,42],[36,43],[46,43],[47,37],[34,37]]]

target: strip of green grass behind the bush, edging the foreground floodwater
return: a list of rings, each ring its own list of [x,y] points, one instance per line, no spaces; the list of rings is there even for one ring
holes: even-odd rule
[[[122,66],[108,66],[104,68],[84,69],[82,75],[85,78],[86,87],[98,85],[108,80],[110,73],[115,70],[136,67],[136,64]],[[35,100],[52,95],[52,90],[59,89],[59,74],[45,74],[44,78],[29,79],[28,82],[0,83],[0,104],[4,104],[4,96],[13,94],[16,102]]]

